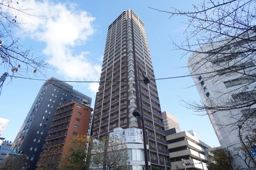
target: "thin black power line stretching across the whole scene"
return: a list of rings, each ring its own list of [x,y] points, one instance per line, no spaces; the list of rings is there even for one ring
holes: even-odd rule
[[[254,65],[253,65],[254,66]],[[252,66],[249,66],[252,67]],[[245,68],[249,68],[249,67],[245,67]],[[209,72],[203,72],[200,74],[194,74],[194,75],[184,75],[184,76],[175,76],[175,77],[166,77],[166,78],[158,78],[158,79],[149,79],[149,80],[166,80],[166,79],[176,79],[176,78],[184,78],[184,77],[191,77],[191,76],[200,76],[200,75],[206,75],[206,74],[210,74],[210,73],[214,73],[214,72],[220,72],[223,70],[215,70],[215,71],[209,71]],[[228,72],[232,72],[234,70],[230,70],[227,71],[225,73]],[[240,72],[238,72],[240,73]],[[243,73],[241,73],[243,74]],[[19,77],[19,76],[7,76],[7,77],[12,77],[12,78],[19,78],[19,79],[27,79],[27,80],[38,80],[38,81],[49,81],[47,79],[35,79],[35,78],[28,78],[28,77]],[[255,77],[255,76],[252,76]],[[111,82],[134,82],[136,80],[120,80],[120,81],[68,81],[68,80],[51,80],[52,82],[70,82],[70,83],[111,83]],[[137,81],[143,81],[143,80],[137,80]]]

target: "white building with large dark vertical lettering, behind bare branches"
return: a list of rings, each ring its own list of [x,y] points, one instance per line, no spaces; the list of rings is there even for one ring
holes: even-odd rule
[[[250,45],[254,46],[254,48],[255,37],[255,33],[250,35],[253,40]],[[252,101],[256,99],[256,78],[247,74],[247,72],[249,72],[249,75],[256,74],[255,52],[243,52],[248,41],[234,39],[231,42],[229,41],[228,45],[224,45],[227,43],[226,41],[205,45],[203,48],[198,49],[199,53],[193,53],[188,59],[188,67],[191,74],[196,75],[193,76],[193,80],[202,102],[206,106],[225,107],[225,102],[227,101],[232,104],[232,101],[236,102],[241,99],[250,99]],[[215,52],[219,52],[219,54],[216,55]],[[247,57],[245,58],[244,56]],[[237,72],[230,74],[224,68],[241,70],[240,72],[245,74],[238,74]],[[220,70],[221,72],[218,72]],[[210,73],[211,71],[217,72]],[[218,75],[213,76],[216,74]],[[248,113],[255,113],[255,110],[255,104],[250,109],[227,109],[217,113],[214,112],[215,110],[207,110],[210,122],[222,148],[229,148],[229,150],[234,151],[236,147],[241,146],[238,123],[236,123],[237,119],[246,116]],[[253,128],[251,132],[253,132]],[[243,136],[246,136],[246,134],[243,134]],[[241,169],[248,168],[241,158],[235,157],[234,162]]]

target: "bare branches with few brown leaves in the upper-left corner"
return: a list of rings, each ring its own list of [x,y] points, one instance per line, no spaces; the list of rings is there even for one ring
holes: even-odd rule
[[[34,57],[31,48],[20,44],[17,37],[16,32],[24,32],[19,19],[24,15],[30,17],[31,14],[18,1],[0,0],[0,66],[9,75],[29,76],[47,69],[44,58]]]

